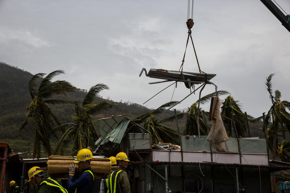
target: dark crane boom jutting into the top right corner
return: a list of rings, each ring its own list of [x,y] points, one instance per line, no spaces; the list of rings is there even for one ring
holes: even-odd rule
[[[290,32],[290,15],[285,15],[272,0],[260,0],[277,17],[282,25]]]

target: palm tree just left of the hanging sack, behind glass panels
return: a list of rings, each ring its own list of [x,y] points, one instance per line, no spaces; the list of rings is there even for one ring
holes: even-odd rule
[[[217,91],[218,96],[229,94],[226,90],[219,90]],[[203,96],[200,98],[200,104],[204,105],[211,101],[211,97],[215,96],[214,93],[210,93],[206,96]],[[198,124],[197,124],[197,114],[198,114],[198,100],[195,103],[192,103],[192,105],[188,108],[187,112],[187,119],[186,119],[186,125],[184,130],[184,135],[198,135]],[[208,115],[208,112],[205,113]],[[207,129],[206,129],[206,123],[204,121],[202,109],[199,108],[199,128],[200,128],[200,134],[201,135],[207,135]]]

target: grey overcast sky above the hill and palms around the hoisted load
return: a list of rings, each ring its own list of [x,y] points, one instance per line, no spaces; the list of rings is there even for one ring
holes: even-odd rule
[[[276,0],[290,14],[289,0]],[[187,1],[0,1],[0,61],[32,74],[66,72],[58,79],[114,101],[142,104],[171,83],[139,77],[142,68],[179,70],[187,40]],[[264,84],[271,73],[273,90],[290,100],[290,33],[259,0],[194,1],[192,38],[201,71],[229,91],[254,117],[271,102]],[[192,45],[183,71],[198,72]],[[171,100],[174,86],[145,105]],[[172,100],[189,94],[178,84]],[[207,85],[202,96],[214,92]],[[222,99],[225,96],[221,97]],[[176,109],[198,100],[198,92]],[[208,111],[208,105],[203,106]]]

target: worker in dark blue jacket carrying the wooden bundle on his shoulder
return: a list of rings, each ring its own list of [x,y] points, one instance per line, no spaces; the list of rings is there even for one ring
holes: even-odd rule
[[[69,191],[75,193],[91,193],[94,185],[94,175],[91,169],[91,161],[93,154],[89,149],[81,149],[74,159],[74,163],[77,163],[78,168],[82,170],[79,177],[74,179],[76,165],[71,163],[68,166],[69,179],[67,181],[67,187]]]

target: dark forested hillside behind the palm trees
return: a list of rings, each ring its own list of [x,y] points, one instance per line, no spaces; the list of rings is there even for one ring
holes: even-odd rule
[[[34,127],[29,124],[24,130],[19,132],[21,125],[24,123],[27,117],[26,107],[31,103],[31,96],[29,92],[29,81],[34,75],[20,69],[18,67],[8,65],[4,62],[0,62],[0,141],[8,142],[9,146],[14,149],[15,152],[31,152],[33,149],[34,141]],[[95,83],[98,84],[98,83]],[[39,86],[39,83],[38,83]],[[73,100],[82,101],[87,90],[76,89],[74,92],[70,92],[68,97],[57,96],[59,99],[63,100]],[[101,93],[100,93],[101,94]],[[113,98],[113,97],[112,97]],[[95,97],[94,103],[100,103],[104,101],[101,95]],[[92,117],[92,124],[94,125],[97,133],[98,130],[98,119],[111,117],[112,115],[126,115],[129,119],[134,119],[139,115],[144,115],[153,109],[148,109],[140,104],[132,103],[130,101],[113,101],[109,100],[110,103],[114,103],[114,106],[106,111],[102,111],[98,116]],[[75,113],[75,106],[72,104],[58,104],[49,106],[53,114],[59,118],[61,124],[72,122],[72,115]],[[190,109],[191,107],[188,107]],[[182,113],[179,110],[178,113]],[[184,111],[184,110],[183,110]],[[166,117],[174,115],[172,110],[162,110],[162,113],[156,114],[156,119],[164,119]],[[143,123],[146,124],[145,116],[143,117]],[[148,116],[147,116],[148,118]],[[154,118],[155,119],[155,118]],[[207,119],[207,116],[206,116]],[[208,126],[211,127],[212,123],[207,122]],[[165,126],[176,129],[176,122],[166,122]],[[143,126],[143,125],[142,125]],[[263,122],[250,122],[250,134],[251,137],[264,138],[264,132],[259,130],[263,127]],[[186,128],[186,117],[179,120],[179,128],[183,132]],[[61,136],[59,134],[59,136]],[[247,137],[247,135],[245,135]],[[50,140],[51,146],[55,147],[58,138],[53,137]],[[42,151],[43,155],[46,155]],[[69,153],[69,148],[67,148],[66,154]]]

